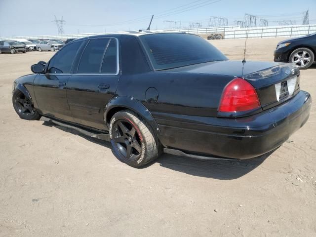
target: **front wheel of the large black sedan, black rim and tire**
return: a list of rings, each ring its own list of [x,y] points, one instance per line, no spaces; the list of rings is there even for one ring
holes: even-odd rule
[[[12,103],[15,112],[22,119],[38,120],[39,112],[34,108],[31,101],[19,90],[15,90],[12,96]]]

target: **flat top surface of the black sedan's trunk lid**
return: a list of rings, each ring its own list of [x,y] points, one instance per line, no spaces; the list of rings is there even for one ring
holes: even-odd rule
[[[254,72],[258,72],[267,68],[271,68],[284,63],[277,62],[258,62],[246,61],[244,64],[240,61],[224,60],[200,63],[180,68],[163,70],[167,72],[186,72],[186,73],[204,73],[204,74],[219,74],[227,76],[242,77]]]

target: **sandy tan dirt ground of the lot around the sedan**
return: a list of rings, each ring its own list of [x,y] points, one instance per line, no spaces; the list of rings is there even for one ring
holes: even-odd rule
[[[272,61],[282,39],[249,39],[247,60]],[[212,40],[242,60],[244,40]],[[274,153],[245,161],[163,155],[143,169],[110,143],[18,118],[12,82],[53,52],[0,55],[1,237],[316,236],[316,110]],[[316,98],[316,65],[301,71]],[[229,149],[229,148],[228,148]]]

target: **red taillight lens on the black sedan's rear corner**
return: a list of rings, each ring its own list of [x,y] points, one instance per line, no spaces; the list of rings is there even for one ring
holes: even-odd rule
[[[236,78],[224,88],[218,111],[239,112],[258,107],[260,102],[255,88],[246,80]]]

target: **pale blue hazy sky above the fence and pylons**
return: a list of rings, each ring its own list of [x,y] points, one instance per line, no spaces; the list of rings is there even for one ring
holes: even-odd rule
[[[209,16],[228,18],[232,25],[244,13],[269,25],[302,24],[307,9],[310,24],[316,24],[316,0],[0,0],[0,37],[57,34],[54,15],[66,21],[65,34],[76,34],[146,29],[151,14],[152,30],[178,27],[179,21],[182,28],[207,27]]]

